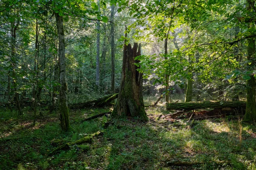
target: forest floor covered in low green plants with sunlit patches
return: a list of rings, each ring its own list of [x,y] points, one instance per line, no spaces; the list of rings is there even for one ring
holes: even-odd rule
[[[255,125],[226,118],[159,119],[167,114],[164,106],[147,109],[148,122],[107,116],[82,122],[110,110],[70,111],[73,130],[63,133],[57,113],[44,112],[32,127],[31,112],[24,113],[21,125],[2,109],[0,170],[256,170]],[[49,156],[58,145],[99,130],[103,135],[93,137],[89,150],[73,145]]]

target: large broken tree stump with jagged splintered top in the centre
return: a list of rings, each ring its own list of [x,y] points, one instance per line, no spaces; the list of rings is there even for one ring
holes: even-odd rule
[[[141,55],[141,45],[134,43],[124,45],[124,57],[122,65],[122,78],[117,98],[116,106],[112,112],[113,116],[139,116],[144,120],[148,120],[143,103],[143,74],[137,71],[138,67],[134,63],[134,58]]]

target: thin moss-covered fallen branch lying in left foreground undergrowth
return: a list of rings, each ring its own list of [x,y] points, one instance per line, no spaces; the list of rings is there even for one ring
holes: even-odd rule
[[[102,131],[98,131],[96,133],[87,135],[79,140],[76,140],[75,142],[68,142],[68,143],[62,144],[61,146],[52,150],[52,152],[50,152],[49,155],[52,155],[53,153],[55,153],[56,151],[59,151],[59,150],[69,149],[70,146],[73,146],[73,145],[78,145],[78,144],[83,144],[83,143],[91,143],[93,141],[94,136],[102,135],[102,133],[103,133]]]

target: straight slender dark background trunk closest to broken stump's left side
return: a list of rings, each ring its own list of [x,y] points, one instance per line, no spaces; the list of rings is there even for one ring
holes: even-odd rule
[[[115,93],[115,42],[114,42],[114,11],[115,6],[111,6],[111,93]]]

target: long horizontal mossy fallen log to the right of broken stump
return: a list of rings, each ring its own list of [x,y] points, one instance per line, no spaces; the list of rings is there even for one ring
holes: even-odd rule
[[[246,102],[236,101],[236,102],[225,102],[225,101],[204,101],[204,102],[186,102],[186,103],[169,103],[166,106],[166,110],[183,110],[191,111],[195,109],[221,109],[221,108],[245,108]]]

